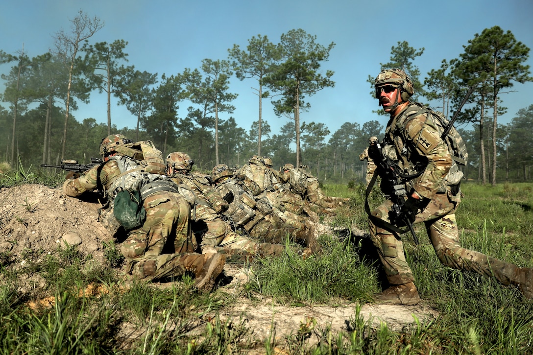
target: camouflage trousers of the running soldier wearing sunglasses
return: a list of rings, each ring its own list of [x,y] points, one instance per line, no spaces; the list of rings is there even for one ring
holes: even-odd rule
[[[390,222],[392,202],[386,200],[372,214]],[[485,254],[465,249],[459,245],[459,233],[455,219],[457,203],[447,193],[438,193],[430,204],[416,215],[414,224],[424,223],[434,251],[440,262],[457,270],[477,272],[484,277],[495,277],[503,285],[513,281],[516,266]],[[389,283],[403,285],[415,280],[407,264],[403,244],[398,235],[368,220],[370,238],[376,246]]]

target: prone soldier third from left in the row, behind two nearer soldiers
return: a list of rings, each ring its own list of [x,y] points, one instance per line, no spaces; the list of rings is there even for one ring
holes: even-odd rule
[[[279,210],[270,204],[264,196],[254,197],[257,184],[244,175],[235,176],[225,164],[213,168],[211,179],[221,195],[231,195],[228,211],[223,214],[232,221],[236,229],[243,229],[254,239],[270,243],[283,244],[287,236],[296,243],[313,249],[316,244],[316,233],[311,221],[302,222],[295,227],[289,224]]]

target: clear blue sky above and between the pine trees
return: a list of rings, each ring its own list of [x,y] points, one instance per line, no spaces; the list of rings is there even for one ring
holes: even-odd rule
[[[172,75],[185,68],[199,68],[201,60],[227,59],[233,44],[246,48],[252,36],[266,35],[277,43],[281,34],[302,28],[316,35],[317,42],[336,45],[329,61],[322,67],[335,72],[335,87],[325,88],[306,101],[309,112],[302,122],[321,122],[335,132],[345,122],[364,124],[377,119],[386,124],[385,116],[373,113],[377,100],[370,95],[368,75],[375,77],[379,63],[388,62],[391,48],[407,41],[415,49],[425,48],[415,60],[422,79],[431,69],[438,69],[443,59],[458,58],[463,45],[483,29],[500,26],[533,49],[533,1],[531,0],[448,0],[378,2],[358,0],[17,0],[0,5],[0,49],[15,53],[24,47],[29,57],[43,54],[53,47],[53,36],[61,28],[70,28],[69,20],[79,10],[99,17],[105,26],[91,42],[128,42],[128,64],[136,69]],[[533,52],[527,63],[533,67]],[[0,72],[9,71],[9,64]],[[240,127],[248,130],[258,117],[258,103],[251,79],[233,77],[230,92],[238,98],[232,115]],[[3,91],[4,88],[2,87]],[[508,123],[516,112],[533,104],[533,83],[515,84],[512,93],[503,94],[507,114],[499,123]],[[73,114],[79,122],[92,117],[107,123],[105,94],[94,92],[89,104],[80,104]],[[111,120],[117,127],[134,128],[136,118],[127,109],[111,106]],[[186,115],[189,102],[180,103],[180,117]],[[4,104],[4,106],[7,106]],[[272,133],[287,122],[274,115],[269,100],[263,101],[263,120]]]

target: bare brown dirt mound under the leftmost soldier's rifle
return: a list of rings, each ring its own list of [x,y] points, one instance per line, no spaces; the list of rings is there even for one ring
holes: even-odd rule
[[[61,189],[26,184],[0,190],[0,251],[11,251],[20,262],[58,245],[77,245],[83,254],[103,260],[102,242],[112,241],[98,222],[98,202],[81,201]]]

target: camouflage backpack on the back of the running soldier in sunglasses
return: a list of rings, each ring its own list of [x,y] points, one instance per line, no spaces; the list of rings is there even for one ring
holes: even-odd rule
[[[439,127],[440,133],[443,134],[450,124],[449,120],[444,116],[444,114],[439,111],[433,111],[429,107],[423,106],[422,104],[416,102],[414,104],[419,107],[419,110],[409,114],[406,123],[411,118],[415,118],[416,116],[427,112],[427,114],[430,114],[435,118],[433,122],[435,122],[435,124]],[[461,137],[461,134],[459,134],[456,128],[452,125],[446,137],[441,138],[448,146],[448,151],[450,152],[451,158],[457,164],[465,166],[466,162],[468,161],[468,151],[466,150],[466,144]]]

